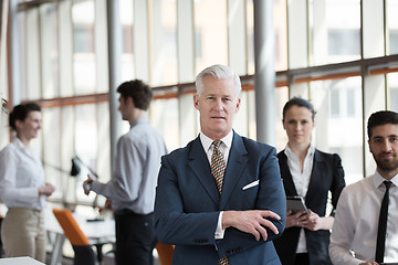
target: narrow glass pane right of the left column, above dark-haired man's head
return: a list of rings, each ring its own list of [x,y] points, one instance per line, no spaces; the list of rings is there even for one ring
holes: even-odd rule
[[[121,0],[121,24],[122,24],[122,80],[133,80],[135,76],[134,70],[134,46],[133,46],[133,30],[134,30],[134,12],[133,1]]]

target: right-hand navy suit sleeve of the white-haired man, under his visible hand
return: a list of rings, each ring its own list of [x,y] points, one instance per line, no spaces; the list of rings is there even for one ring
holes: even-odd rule
[[[265,242],[270,242],[282,235],[286,219],[285,192],[274,148],[269,149],[269,152],[260,161],[259,180],[260,188],[255,208],[248,210],[270,210],[281,216],[281,220],[269,219],[279,231],[279,234],[274,234],[266,229],[268,239]],[[252,234],[230,227],[226,230],[223,240],[217,242],[217,247],[222,257],[244,252],[265,242],[263,240],[256,241]]]

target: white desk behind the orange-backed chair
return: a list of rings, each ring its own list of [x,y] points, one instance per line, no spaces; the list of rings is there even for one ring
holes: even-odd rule
[[[83,233],[88,237],[91,245],[100,245],[103,243],[115,242],[115,220],[105,219],[104,221],[87,222],[85,216],[73,213],[78,226]],[[64,232],[55,219],[52,209],[45,209],[45,229],[48,232],[55,234],[52,242],[53,250],[51,255],[51,265],[61,264],[62,246],[65,241]],[[101,248],[97,246],[101,254]]]

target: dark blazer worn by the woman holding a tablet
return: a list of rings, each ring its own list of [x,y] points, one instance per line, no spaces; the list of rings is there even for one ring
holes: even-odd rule
[[[286,195],[297,195],[284,150],[277,153],[281,177]],[[322,152],[315,149],[305,204],[320,216],[325,216],[328,191],[332,193],[332,205],[336,208],[338,197],[345,187],[342,159],[338,155]],[[282,236],[274,241],[275,248],[283,265],[293,265],[297,250],[300,227],[286,229]],[[328,255],[329,231],[305,231],[305,242],[310,265],[332,265]]]

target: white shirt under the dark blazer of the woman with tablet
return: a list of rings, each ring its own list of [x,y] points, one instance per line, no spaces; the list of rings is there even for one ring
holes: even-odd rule
[[[308,190],[311,172],[314,165],[315,147],[313,145],[310,145],[308,147],[307,153],[304,158],[303,172],[301,171],[297,156],[290,149],[289,145],[286,146],[284,152],[287,157],[287,166],[292,174],[292,179],[294,182],[294,187],[297,191],[297,195],[305,198]],[[305,242],[305,233],[304,233],[304,229],[301,229],[296,253],[306,253],[306,252],[307,250]]]

